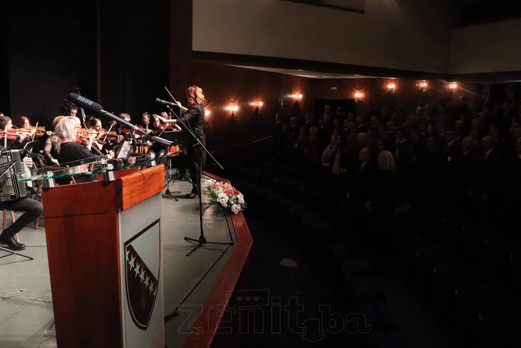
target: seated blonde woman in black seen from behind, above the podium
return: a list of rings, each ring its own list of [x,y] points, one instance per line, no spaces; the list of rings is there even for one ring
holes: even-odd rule
[[[78,138],[78,129],[80,129],[80,120],[78,117],[67,116],[58,122],[54,128],[54,133],[58,136],[56,147],[58,149],[58,162],[65,165],[68,162],[85,160],[94,157],[91,153],[93,136],[82,139]],[[91,182],[96,179],[96,175],[75,176],[77,183]]]

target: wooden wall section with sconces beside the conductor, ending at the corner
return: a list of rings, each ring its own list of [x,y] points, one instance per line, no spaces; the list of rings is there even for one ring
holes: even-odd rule
[[[312,81],[303,77],[194,63],[192,83],[203,88],[205,109],[211,112],[205,130],[210,151],[271,134],[277,112],[289,122],[313,107]],[[298,94],[302,101],[291,97]],[[259,101],[264,103],[260,113]],[[237,118],[229,110],[233,106],[239,106]]]

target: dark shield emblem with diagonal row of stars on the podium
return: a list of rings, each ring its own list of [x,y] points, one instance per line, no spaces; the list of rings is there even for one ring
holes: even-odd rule
[[[159,219],[125,242],[125,290],[130,316],[141,330],[148,323],[156,302],[160,276],[161,241]]]

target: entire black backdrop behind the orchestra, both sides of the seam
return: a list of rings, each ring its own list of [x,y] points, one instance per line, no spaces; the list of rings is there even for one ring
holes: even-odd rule
[[[5,41],[7,54],[0,58],[0,111],[15,122],[20,116],[29,116],[33,124],[51,121],[76,87],[98,101],[98,8],[98,102],[114,113],[130,113],[135,122],[143,111],[160,110],[154,99],[165,93],[169,81],[167,0],[3,6],[6,24],[0,43]]]

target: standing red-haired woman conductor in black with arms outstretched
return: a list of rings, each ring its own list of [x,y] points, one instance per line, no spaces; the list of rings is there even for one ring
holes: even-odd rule
[[[189,107],[184,107],[180,102],[177,102],[179,108],[184,111],[184,117],[181,116],[184,124],[192,130],[192,133],[201,141],[206,147],[206,137],[204,135],[204,93],[200,87],[190,86],[187,89],[187,100]],[[177,119],[166,119],[157,116],[164,123],[177,124]],[[187,151],[188,151],[188,169],[190,170],[190,178],[192,179],[192,191],[187,194],[188,198],[195,198],[199,195],[199,182],[197,181],[200,174],[201,165],[204,166],[206,160],[206,152],[200,149],[199,146],[194,146],[198,142],[193,137],[188,137]],[[201,161],[200,159],[201,151]],[[201,164],[201,165],[200,165]]]

